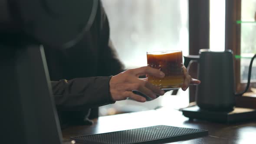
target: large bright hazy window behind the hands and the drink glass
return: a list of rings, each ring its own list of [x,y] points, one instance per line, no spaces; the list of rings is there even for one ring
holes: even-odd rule
[[[179,49],[188,55],[188,0],[102,0],[102,3],[110,23],[112,43],[126,69],[147,65],[147,51]],[[187,106],[188,91],[179,91],[178,95],[167,92],[146,103],[118,101],[101,107],[99,112],[109,115],[158,106]]]

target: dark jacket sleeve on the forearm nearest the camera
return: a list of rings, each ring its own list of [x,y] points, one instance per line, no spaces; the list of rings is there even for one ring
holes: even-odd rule
[[[80,111],[114,103],[109,92],[110,79],[111,76],[52,81],[56,107],[63,111]]]

